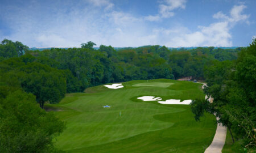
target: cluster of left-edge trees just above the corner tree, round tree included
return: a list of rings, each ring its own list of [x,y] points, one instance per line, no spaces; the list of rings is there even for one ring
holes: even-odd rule
[[[0,88],[5,89],[2,91],[2,95],[7,94],[7,88],[22,88],[24,91],[34,94],[42,108],[46,101],[58,103],[66,93],[65,76],[67,75],[64,75],[63,71],[47,65],[28,62],[28,59],[34,58],[26,57],[10,58],[0,63],[2,66],[0,77],[2,86]]]

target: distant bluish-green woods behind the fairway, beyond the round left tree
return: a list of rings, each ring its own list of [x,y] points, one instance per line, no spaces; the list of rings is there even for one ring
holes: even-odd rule
[[[82,48],[46,49],[27,52],[40,62],[61,70],[70,70],[67,92],[81,92],[87,87],[102,83],[124,82],[134,79],[177,79],[184,76],[204,78],[204,67],[216,60],[216,52],[228,54],[226,59],[236,59],[238,50],[197,48],[192,50],[169,50],[166,46],[142,46],[116,51],[112,46],[94,42],[82,44]],[[234,55],[230,56],[230,55]],[[222,60],[218,58],[219,60]],[[218,61],[218,60],[217,60]],[[72,80],[70,80],[72,79]],[[75,84],[71,84],[76,82]]]

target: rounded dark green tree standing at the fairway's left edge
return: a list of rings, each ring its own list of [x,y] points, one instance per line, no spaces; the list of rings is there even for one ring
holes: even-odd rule
[[[21,86],[24,91],[36,96],[43,108],[44,103],[58,103],[66,93],[66,79],[61,71],[40,63],[28,63],[21,68],[27,73]]]

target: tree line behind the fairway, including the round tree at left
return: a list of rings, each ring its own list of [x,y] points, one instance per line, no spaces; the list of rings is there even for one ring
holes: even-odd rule
[[[94,45],[89,41],[81,48],[39,51],[5,39],[0,44],[1,82],[34,94],[43,108],[46,101],[58,103],[66,92],[82,92],[98,84],[184,76],[204,79],[204,67],[213,61],[232,61],[241,50],[169,50],[154,45],[117,51],[105,45],[96,50]]]

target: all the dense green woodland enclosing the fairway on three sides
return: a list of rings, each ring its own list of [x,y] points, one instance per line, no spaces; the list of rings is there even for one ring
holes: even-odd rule
[[[247,48],[236,49],[169,50],[154,45],[115,50],[105,45],[94,49],[94,45],[89,41],[81,44],[81,48],[39,51],[29,50],[19,41],[1,42],[0,152],[57,152],[52,139],[65,125],[40,109],[35,101],[43,108],[44,103],[58,103],[69,92],[137,79],[192,76],[206,80],[209,87],[205,92],[214,97],[214,103],[197,100],[192,105],[196,119],[204,111],[217,112],[236,139],[244,139],[246,129],[230,119],[240,111],[250,124],[249,136],[255,134],[255,41]],[[238,109],[242,106],[243,109]],[[249,144],[252,139],[246,140]]]

